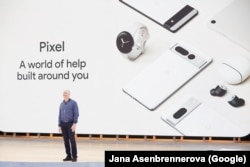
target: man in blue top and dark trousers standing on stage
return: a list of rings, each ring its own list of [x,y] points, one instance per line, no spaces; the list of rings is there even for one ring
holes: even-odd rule
[[[77,161],[77,147],[75,140],[75,129],[78,121],[79,111],[76,101],[70,98],[70,91],[63,91],[63,101],[59,109],[59,132],[63,135],[66,158],[63,161]]]

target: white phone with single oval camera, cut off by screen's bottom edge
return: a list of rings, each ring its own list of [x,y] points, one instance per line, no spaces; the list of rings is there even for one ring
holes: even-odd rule
[[[162,112],[161,119],[184,136],[244,137],[249,134],[192,96],[181,99],[175,106]]]

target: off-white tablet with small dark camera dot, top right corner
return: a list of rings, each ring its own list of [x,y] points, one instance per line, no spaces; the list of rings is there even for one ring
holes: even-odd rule
[[[250,1],[234,0],[215,15],[208,26],[250,51]]]

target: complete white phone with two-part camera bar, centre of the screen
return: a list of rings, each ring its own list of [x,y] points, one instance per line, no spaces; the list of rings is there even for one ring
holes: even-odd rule
[[[177,43],[129,81],[123,91],[147,109],[155,110],[211,61]]]

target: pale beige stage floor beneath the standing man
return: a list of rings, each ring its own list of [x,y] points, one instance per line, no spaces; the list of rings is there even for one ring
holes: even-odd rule
[[[250,150],[246,142],[77,139],[78,162],[104,162],[105,150]],[[63,140],[0,137],[0,161],[62,162]]]

